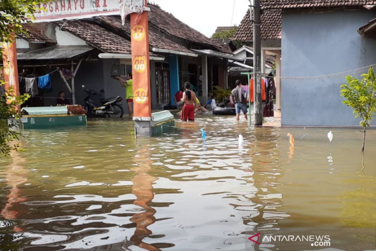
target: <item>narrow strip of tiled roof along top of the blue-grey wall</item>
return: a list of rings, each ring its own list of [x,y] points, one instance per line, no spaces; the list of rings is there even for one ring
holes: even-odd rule
[[[265,9],[334,8],[376,5],[376,0],[261,0]]]

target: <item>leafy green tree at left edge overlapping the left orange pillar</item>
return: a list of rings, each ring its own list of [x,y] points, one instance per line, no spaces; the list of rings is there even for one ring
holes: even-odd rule
[[[38,2],[43,3],[46,0]],[[31,22],[34,19],[34,13],[38,11],[36,4],[37,2],[33,0],[0,1],[0,44],[12,42],[14,36],[27,34],[22,23]],[[0,60],[2,58],[3,50],[0,48]],[[20,119],[17,107],[28,98],[27,95],[17,97],[12,88],[5,90],[4,86],[4,79],[0,76],[0,157],[9,155],[12,149],[18,149],[18,145],[12,145],[12,141],[18,139],[20,132],[12,128]],[[12,118],[13,122],[8,123],[9,118]]]

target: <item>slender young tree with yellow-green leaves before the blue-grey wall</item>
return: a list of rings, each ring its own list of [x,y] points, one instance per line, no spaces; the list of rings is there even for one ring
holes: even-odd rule
[[[376,112],[376,76],[370,67],[367,74],[362,74],[359,81],[353,76],[346,76],[347,84],[341,85],[341,96],[345,98],[343,103],[350,106],[355,117],[362,120],[359,123],[363,127],[363,145],[365,145],[365,130],[370,127],[373,115]]]

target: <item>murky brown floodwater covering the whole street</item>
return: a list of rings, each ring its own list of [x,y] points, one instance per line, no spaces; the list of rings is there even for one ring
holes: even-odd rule
[[[176,126],[137,139],[127,120],[26,132],[25,151],[0,160],[0,250],[231,251],[263,227],[376,227],[375,130],[363,159],[358,129],[329,142],[330,129],[233,117]]]

